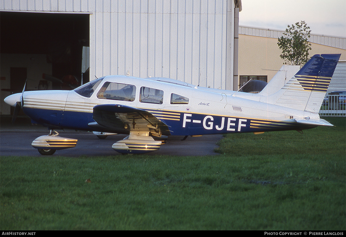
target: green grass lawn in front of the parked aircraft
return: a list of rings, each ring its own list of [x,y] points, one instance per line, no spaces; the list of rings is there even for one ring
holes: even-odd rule
[[[1,156],[0,229],[345,230],[346,122],[325,119],[216,156]]]

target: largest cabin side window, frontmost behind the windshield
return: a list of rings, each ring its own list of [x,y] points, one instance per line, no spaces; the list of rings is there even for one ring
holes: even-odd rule
[[[97,97],[99,99],[113,99],[116,101],[134,101],[136,86],[115,82],[105,82]]]

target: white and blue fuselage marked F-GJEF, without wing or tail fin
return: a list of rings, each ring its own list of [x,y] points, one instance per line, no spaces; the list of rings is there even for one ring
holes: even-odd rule
[[[133,98],[127,101],[129,99],[100,96],[100,91],[107,83],[133,86]],[[149,88],[147,92],[141,91],[143,87]],[[162,93],[162,101],[144,101],[146,93],[151,96],[151,89]],[[100,104],[122,104],[152,113],[169,127],[170,135],[301,130],[313,126],[297,124],[294,118],[319,117],[311,112],[234,96],[239,93],[224,90],[217,93],[152,79],[106,76],[101,79],[90,97],[75,90],[24,92],[22,108],[34,123],[53,129],[95,131],[97,129],[88,125],[94,122],[93,107]],[[172,94],[177,95],[176,103],[172,101]],[[155,96],[157,95],[152,95]],[[184,101],[179,101],[179,96]],[[253,97],[259,100],[256,96]]]

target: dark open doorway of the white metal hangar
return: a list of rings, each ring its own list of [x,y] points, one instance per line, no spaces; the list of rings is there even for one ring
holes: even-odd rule
[[[1,12],[0,29],[2,91],[22,90],[15,68],[26,68],[27,90],[72,89],[82,76],[83,83],[89,81],[82,66],[89,14]]]

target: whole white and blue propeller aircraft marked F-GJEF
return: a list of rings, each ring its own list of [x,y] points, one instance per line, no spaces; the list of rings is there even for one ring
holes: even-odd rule
[[[167,78],[105,76],[72,91],[24,91],[5,102],[51,129],[32,146],[41,154],[77,140],[55,129],[128,134],[112,145],[120,153],[160,149],[167,136],[311,129],[333,126],[319,110],[340,54],[321,54],[286,78],[277,73],[258,94],[211,89]],[[295,71],[297,72],[297,70]]]

